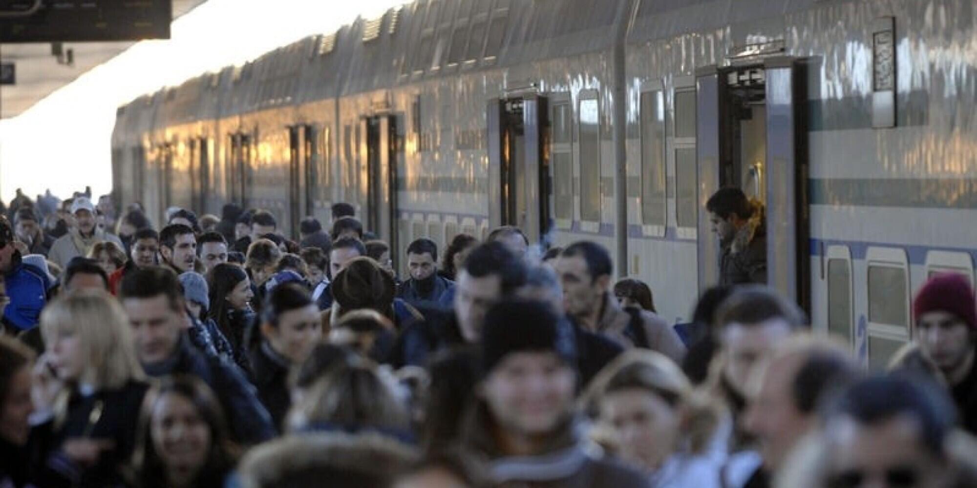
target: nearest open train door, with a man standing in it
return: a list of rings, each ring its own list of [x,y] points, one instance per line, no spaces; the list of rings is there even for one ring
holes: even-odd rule
[[[767,283],[810,308],[802,61],[772,58],[697,73],[700,287],[719,281],[705,202],[737,186],[764,204]]]

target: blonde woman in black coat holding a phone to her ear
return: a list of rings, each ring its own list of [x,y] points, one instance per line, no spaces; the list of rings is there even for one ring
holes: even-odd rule
[[[35,427],[48,447],[41,470],[54,478],[39,486],[115,486],[148,389],[125,313],[105,292],[68,294],[41,313],[41,332],[48,352],[37,369],[58,387],[38,402],[51,414]]]

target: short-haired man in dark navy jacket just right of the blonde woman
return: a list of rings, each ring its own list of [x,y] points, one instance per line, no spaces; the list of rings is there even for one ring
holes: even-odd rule
[[[191,346],[187,308],[171,269],[150,266],[126,276],[120,297],[136,353],[150,377],[185,374],[202,380],[220,400],[238,442],[256,444],[275,435],[268,411],[239,370]]]

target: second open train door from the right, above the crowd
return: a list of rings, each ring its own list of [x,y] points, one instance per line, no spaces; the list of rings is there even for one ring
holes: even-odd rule
[[[522,228],[531,243],[551,225],[548,113],[535,95],[488,102],[488,219]]]

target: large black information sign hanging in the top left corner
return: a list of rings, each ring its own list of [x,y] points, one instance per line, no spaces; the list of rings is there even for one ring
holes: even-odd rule
[[[169,39],[172,0],[0,0],[0,43]]]

